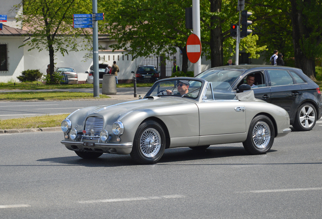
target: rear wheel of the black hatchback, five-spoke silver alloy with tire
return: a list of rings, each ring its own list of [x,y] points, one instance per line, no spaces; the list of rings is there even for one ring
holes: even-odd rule
[[[296,112],[293,128],[297,131],[309,131],[316,123],[316,109],[311,103],[303,103]]]

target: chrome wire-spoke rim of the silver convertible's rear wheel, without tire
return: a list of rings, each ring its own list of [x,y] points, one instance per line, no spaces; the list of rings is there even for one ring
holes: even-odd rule
[[[270,129],[267,123],[258,122],[253,129],[253,142],[257,148],[265,148],[270,140]]]

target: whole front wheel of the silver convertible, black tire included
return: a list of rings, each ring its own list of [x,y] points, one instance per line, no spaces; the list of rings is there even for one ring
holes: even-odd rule
[[[154,164],[163,156],[166,149],[166,134],[155,121],[148,120],[137,129],[132,152],[133,160],[140,164]]]

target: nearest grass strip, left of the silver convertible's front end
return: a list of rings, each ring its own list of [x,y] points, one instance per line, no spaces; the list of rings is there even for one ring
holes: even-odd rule
[[[54,116],[25,117],[18,119],[0,120],[0,129],[28,129],[58,127],[69,114]]]

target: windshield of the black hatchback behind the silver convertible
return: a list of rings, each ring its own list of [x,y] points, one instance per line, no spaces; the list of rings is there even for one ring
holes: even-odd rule
[[[196,78],[212,82],[213,89],[231,90],[231,85],[243,72],[243,70],[209,69],[197,75]]]

